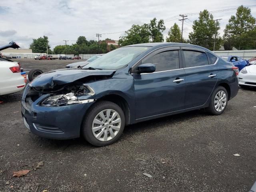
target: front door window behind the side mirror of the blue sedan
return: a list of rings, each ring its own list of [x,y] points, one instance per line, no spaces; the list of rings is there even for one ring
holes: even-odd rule
[[[142,60],[142,64],[152,63],[156,65],[156,71],[174,70],[179,68],[178,50],[164,51]]]

